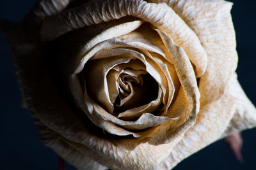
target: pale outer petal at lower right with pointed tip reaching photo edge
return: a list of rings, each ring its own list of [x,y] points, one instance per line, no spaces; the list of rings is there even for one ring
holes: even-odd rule
[[[217,139],[255,126],[256,109],[244,95],[236,74],[233,74],[225,94],[218,101],[200,109],[196,124],[173,147],[169,157],[155,168],[170,169]]]

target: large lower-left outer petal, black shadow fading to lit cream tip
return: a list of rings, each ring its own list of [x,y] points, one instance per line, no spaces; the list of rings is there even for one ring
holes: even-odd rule
[[[26,44],[22,47],[30,49]],[[19,48],[15,52],[18,53]],[[61,89],[56,88],[60,85],[56,84],[58,77],[52,74],[49,66],[49,61],[54,62],[52,56],[45,55],[41,48],[29,52],[31,53],[20,53],[22,56],[15,57],[26,103],[34,117],[45,125],[40,127],[40,124],[36,123],[41,131],[42,141],[59,154],[62,154],[65,148],[65,151],[70,153],[63,153],[68,162],[83,169],[82,167],[86,167],[88,163],[85,159],[90,157],[92,162],[97,160],[99,164],[113,169],[117,169],[117,166],[123,169],[149,169],[167,157],[182,137],[179,136],[166,145],[143,143],[132,151],[126,150],[129,145],[134,145],[132,140],[127,138],[124,143],[118,143],[118,139],[102,136],[102,129],[88,121],[86,115],[79,111],[74,113],[72,106],[68,106],[67,96],[62,96],[63,93],[59,91]],[[54,134],[47,134],[49,129]],[[81,148],[86,148],[83,153]]]

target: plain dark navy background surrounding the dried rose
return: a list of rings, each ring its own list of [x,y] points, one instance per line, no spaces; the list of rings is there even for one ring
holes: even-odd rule
[[[14,22],[28,13],[36,0],[0,0],[0,19]],[[256,14],[254,0],[237,0],[232,18],[237,36],[238,79],[256,104]],[[38,139],[27,110],[20,108],[20,90],[13,71],[12,57],[0,31],[0,169],[58,169],[58,156]],[[179,169],[256,169],[256,129],[243,132],[244,164],[239,164],[225,141],[220,140],[182,161]],[[67,170],[74,170],[68,165]]]

